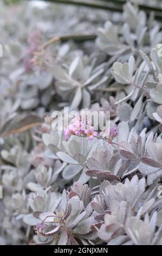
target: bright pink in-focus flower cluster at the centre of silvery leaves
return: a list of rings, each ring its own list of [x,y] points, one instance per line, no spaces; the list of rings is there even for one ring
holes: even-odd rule
[[[66,139],[68,139],[70,135],[76,135],[88,137],[92,140],[94,136],[98,135],[98,132],[94,131],[94,127],[91,126],[85,116],[80,115],[79,118],[74,118],[72,122],[72,124],[68,125],[67,130],[64,131]]]

